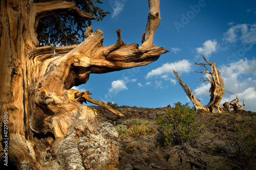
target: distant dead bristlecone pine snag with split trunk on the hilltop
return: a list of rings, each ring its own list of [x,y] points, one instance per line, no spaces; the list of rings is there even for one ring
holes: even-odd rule
[[[203,55],[202,55],[203,56]],[[242,110],[244,109],[244,104],[243,106],[239,105],[239,100],[238,100],[238,96],[236,95],[236,103],[232,103],[233,101],[231,101],[230,103],[226,102],[223,104],[223,107],[220,108],[220,102],[222,99],[222,96],[224,94],[224,83],[223,80],[221,78],[221,72],[217,69],[216,67],[216,63],[210,63],[208,60],[206,60],[206,58],[203,56],[203,59],[206,61],[206,63],[196,63],[197,65],[202,65],[205,67],[205,71],[196,71],[196,72],[200,72],[200,73],[204,73],[207,77],[207,79],[203,79],[201,78],[200,80],[205,81],[209,81],[210,82],[210,102],[204,106],[194,95],[193,91],[188,87],[188,85],[181,80],[181,77],[178,75],[177,72],[175,72],[175,70],[173,70],[176,78],[178,79],[181,87],[183,88],[183,90],[186,92],[188,98],[191,100],[191,102],[193,103],[194,107],[196,110],[199,109],[203,109],[206,111],[210,111],[212,113],[221,113],[221,112],[230,112],[231,109],[233,108],[234,110]],[[210,66],[211,71],[208,71],[207,69],[207,65]],[[209,77],[211,76],[211,78]],[[229,92],[230,93],[230,92]],[[233,93],[231,93],[233,94]],[[234,94],[235,95],[235,94]]]

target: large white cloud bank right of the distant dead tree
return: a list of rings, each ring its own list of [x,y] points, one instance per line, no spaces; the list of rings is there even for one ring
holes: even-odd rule
[[[243,59],[237,62],[232,62],[228,65],[222,65],[220,72],[225,85],[225,89],[236,95],[245,103],[245,110],[256,111],[256,59]],[[231,102],[236,99],[236,96],[225,92],[222,98],[222,103]],[[221,105],[222,105],[221,103]]]

